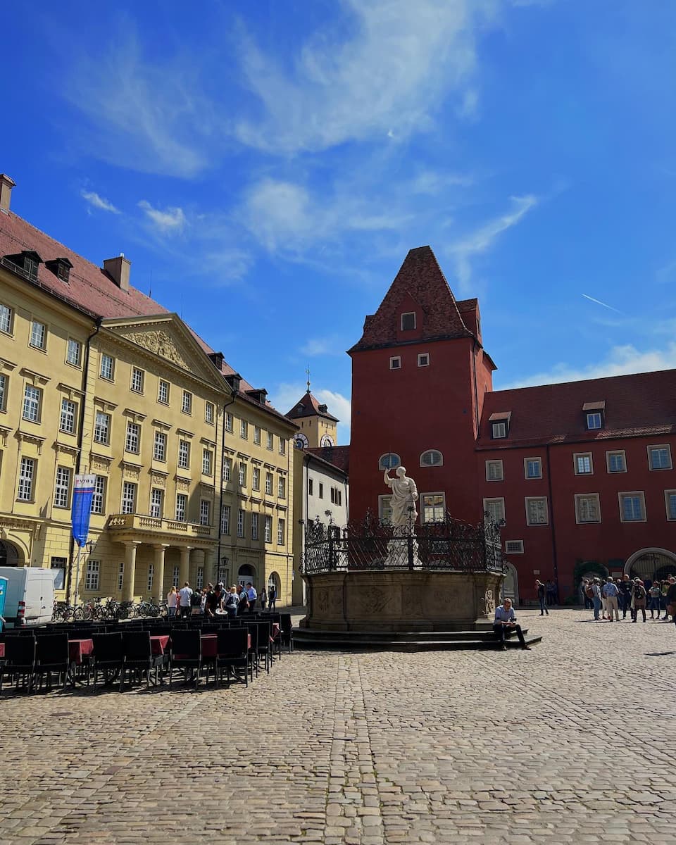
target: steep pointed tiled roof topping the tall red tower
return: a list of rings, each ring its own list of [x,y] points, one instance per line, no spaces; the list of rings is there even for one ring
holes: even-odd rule
[[[362,338],[350,352],[390,346],[396,342],[399,304],[406,294],[413,297],[423,310],[421,340],[472,334],[462,320],[453,292],[432,249],[417,247],[409,250],[378,311],[368,315]]]

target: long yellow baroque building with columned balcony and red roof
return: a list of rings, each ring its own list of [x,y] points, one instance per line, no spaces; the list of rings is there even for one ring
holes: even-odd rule
[[[59,595],[275,584],[291,602],[297,426],[187,324],[10,210],[0,175],[0,565]],[[95,475],[79,578],[74,476]]]

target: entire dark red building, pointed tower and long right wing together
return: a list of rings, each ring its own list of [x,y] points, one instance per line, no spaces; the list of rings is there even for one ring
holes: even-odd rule
[[[412,249],[352,357],[352,519],[387,518],[406,466],[423,521],[504,524],[506,590],[576,594],[589,571],[676,573],[676,370],[493,390],[476,299]]]

